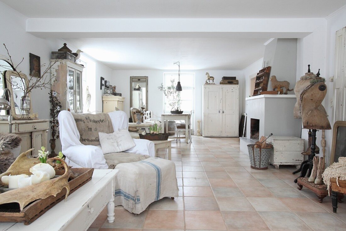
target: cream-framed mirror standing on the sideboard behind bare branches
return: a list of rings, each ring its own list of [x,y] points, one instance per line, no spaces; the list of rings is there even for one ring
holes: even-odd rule
[[[11,114],[15,119],[28,119],[32,113],[30,93],[25,95],[28,78],[25,74],[6,71],[6,84],[11,92]],[[25,99],[25,100],[24,100]]]

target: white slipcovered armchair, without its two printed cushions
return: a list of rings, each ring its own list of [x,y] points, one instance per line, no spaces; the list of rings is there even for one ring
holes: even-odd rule
[[[127,115],[123,111],[109,112],[114,131],[128,129]],[[149,157],[155,157],[155,147],[152,141],[133,139],[136,146],[122,153],[104,155],[100,146],[84,145],[80,142],[80,133],[75,120],[69,111],[61,111],[58,115],[62,152],[66,163],[74,168],[107,169],[107,157],[124,157],[124,162],[135,162]],[[102,131],[100,131],[102,132]],[[131,161],[133,159],[133,161]],[[122,162],[122,161],[120,161]],[[119,163],[120,163],[119,162]]]

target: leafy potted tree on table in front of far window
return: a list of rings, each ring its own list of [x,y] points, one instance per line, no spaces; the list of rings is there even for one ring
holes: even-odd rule
[[[163,91],[166,99],[168,99],[168,105],[171,107],[171,113],[182,114],[183,111],[180,110],[180,91],[176,91],[175,86],[175,80],[171,79],[171,85],[164,87],[161,83],[161,86],[158,87],[158,89]]]

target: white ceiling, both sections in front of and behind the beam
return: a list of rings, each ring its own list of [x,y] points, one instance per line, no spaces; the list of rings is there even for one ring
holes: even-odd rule
[[[0,0],[28,18],[319,18],[345,0]],[[112,69],[242,70],[263,57],[270,35],[252,38],[164,36],[143,33],[116,38],[63,38]],[[170,33],[167,31],[167,33]],[[41,33],[42,34],[42,33]],[[183,34],[181,34],[184,36]],[[64,37],[62,33],[54,36]],[[53,36],[53,37],[54,37]],[[66,35],[65,35],[66,36]],[[175,38],[173,38],[173,36]],[[268,37],[266,37],[268,36]],[[294,36],[294,35],[292,35]],[[41,37],[49,37],[48,33]],[[67,36],[66,36],[67,37]],[[88,36],[92,37],[92,36]],[[240,37],[240,38],[239,38]]]

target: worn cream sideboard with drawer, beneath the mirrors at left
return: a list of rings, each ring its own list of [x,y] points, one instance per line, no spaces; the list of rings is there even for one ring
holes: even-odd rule
[[[22,138],[20,153],[35,149],[32,154],[38,154],[42,146],[47,146],[48,119],[13,120],[12,133]],[[0,132],[9,133],[9,122],[0,121]]]

